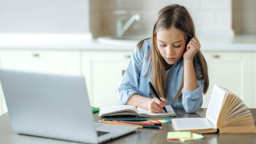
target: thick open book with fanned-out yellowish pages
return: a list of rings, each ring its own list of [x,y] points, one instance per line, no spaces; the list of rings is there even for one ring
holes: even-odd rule
[[[173,118],[175,131],[196,133],[256,132],[253,116],[243,101],[225,88],[214,85],[205,118]]]

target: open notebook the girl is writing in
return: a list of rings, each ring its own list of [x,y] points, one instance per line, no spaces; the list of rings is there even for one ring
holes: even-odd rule
[[[167,117],[176,116],[171,105],[166,105],[167,113],[150,113],[147,109],[136,108],[131,105],[117,105],[100,108],[99,116],[136,116],[136,117]]]

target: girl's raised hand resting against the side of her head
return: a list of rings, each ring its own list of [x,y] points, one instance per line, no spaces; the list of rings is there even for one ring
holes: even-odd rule
[[[196,52],[199,51],[201,45],[196,37],[191,38],[186,47],[186,51],[183,54],[184,60],[193,60]]]

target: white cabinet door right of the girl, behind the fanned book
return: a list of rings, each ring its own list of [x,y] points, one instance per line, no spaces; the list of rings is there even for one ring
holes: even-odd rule
[[[235,93],[251,108],[252,54],[250,52],[203,52],[209,70],[210,85],[204,95],[203,108],[207,108],[213,84],[219,84]]]

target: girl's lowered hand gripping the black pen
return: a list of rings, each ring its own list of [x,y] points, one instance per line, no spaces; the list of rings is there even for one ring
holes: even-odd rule
[[[150,100],[148,102],[148,111],[150,111],[150,113],[161,113],[166,104],[166,99],[161,98],[161,100],[157,99],[156,97]]]

